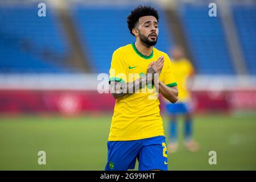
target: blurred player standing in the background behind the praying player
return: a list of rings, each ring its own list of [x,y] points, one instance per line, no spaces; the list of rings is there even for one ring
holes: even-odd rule
[[[192,111],[191,96],[188,90],[188,80],[195,71],[188,59],[184,57],[183,48],[175,47],[172,51],[172,69],[179,89],[179,101],[170,104],[167,101],[166,110],[170,115],[170,140],[168,143],[168,152],[175,152],[178,147],[177,142],[177,115],[183,115],[185,118],[184,138],[185,147],[192,152],[199,150],[199,144],[192,139]]]

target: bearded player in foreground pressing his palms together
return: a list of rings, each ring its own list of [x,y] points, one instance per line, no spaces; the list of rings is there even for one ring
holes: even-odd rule
[[[105,170],[134,169],[137,159],[139,170],[168,169],[156,88],[172,103],[178,92],[168,55],[153,47],[158,40],[158,20],[154,8],[135,8],[127,24],[136,42],[113,53],[109,82],[116,101]]]

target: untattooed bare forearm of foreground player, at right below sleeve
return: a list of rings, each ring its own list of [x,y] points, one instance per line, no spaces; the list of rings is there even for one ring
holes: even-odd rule
[[[169,87],[164,85],[162,81],[159,81],[159,92],[172,103],[175,103],[178,100],[177,86]]]

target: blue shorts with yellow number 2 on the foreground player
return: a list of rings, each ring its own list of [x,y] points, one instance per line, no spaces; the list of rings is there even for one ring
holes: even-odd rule
[[[136,159],[139,171],[168,170],[166,138],[164,136],[131,141],[109,141],[106,171],[134,169]]]

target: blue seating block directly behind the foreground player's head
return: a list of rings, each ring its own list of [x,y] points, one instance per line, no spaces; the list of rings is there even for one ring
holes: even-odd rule
[[[126,18],[132,7],[81,7],[73,9],[73,20],[93,72],[108,73],[115,49],[135,42],[127,28]],[[166,17],[159,10],[159,39],[156,48],[168,53],[172,37]],[[104,18],[102,18],[104,17]]]

